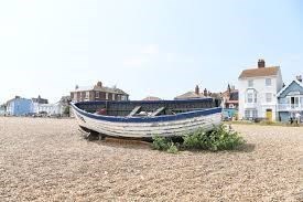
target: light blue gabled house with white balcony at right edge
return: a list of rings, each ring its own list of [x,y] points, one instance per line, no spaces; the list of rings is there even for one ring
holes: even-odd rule
[[[296,76],[288,86],[278,93],[278,113],[280,121],[289,121],[290,117],[301,114],[303,119],[303,83],[302,76]]]

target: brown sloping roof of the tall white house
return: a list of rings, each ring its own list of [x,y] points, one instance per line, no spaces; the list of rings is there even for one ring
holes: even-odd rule
[[[279,74],[279,71],[280,71],[279,66],[250,68],[250,70],[242,71],[239,78],[275,76]]]

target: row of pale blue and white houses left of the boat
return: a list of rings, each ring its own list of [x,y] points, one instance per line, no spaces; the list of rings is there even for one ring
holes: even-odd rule
[[[64,96],[55,104],[48,104],[47,99],[39,96],[37,98],[24,98],[15,96],[1,105],[0,115],[8,116],[29,116],[35,114],[44,114],[47,116],[62,116],[71,102],[69,96]]]

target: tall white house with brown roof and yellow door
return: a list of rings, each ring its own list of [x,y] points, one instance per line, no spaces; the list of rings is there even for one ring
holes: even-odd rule
[[[283,87],[279,66],[266,66],[258,61],[255,68],[245,70],[239,76],[239,118],[267,118],[277,120],[277,94]]]

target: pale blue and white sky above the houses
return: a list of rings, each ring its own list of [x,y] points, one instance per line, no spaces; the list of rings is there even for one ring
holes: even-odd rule
[[[300,0],[0,0],[0,103],[101,81],[131,99],[223,92],[264,59],[303,75]]]

